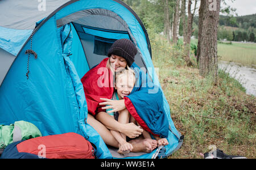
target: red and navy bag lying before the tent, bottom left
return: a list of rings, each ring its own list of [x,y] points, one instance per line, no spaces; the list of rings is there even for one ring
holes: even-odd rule
[[[1,158],[94,159],[94,151],[81,135],[65,133],[14,142],[5,148]]]

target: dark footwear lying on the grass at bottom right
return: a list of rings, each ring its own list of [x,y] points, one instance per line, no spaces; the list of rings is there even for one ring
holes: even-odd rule
[[[244,156],[238,155],[227,155],[222,150],[218,148],[203,154],[204,159],[246,159]]]

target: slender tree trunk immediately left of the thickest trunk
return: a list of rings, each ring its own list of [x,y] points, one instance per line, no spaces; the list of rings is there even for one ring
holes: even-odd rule
[[[191,14],[191,2],[192,0],[188,0],[188,22],[187,22],[187,33],[184,39],[184,46],[185,46],[185,62],[187,66],[192,66],[192,62],[190,60],[190,41],[191,41],[191,34],[192,34],[192,14]]]

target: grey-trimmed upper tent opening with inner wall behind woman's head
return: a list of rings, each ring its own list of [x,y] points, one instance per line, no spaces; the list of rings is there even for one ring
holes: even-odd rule
[[[89,69],[106,58],[108,49],[115,40],[129,39],[137,46],[126,22],[106,9],[94,8],[75,12],[57,20],[57,27],[67,23],[72,23],[79,36]],[[137,49],[135,63],[139,67],[146,68],[138,46]]]

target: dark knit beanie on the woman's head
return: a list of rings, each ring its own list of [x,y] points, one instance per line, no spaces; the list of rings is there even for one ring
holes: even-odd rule
[[[108,57],[112,54],[126,59],[127,65],[130,67],[134,62],[134,57],[137,54],[137,48],[128,39],[119,39],[112,44],[108,50]]]

